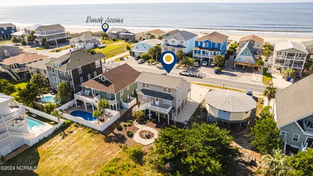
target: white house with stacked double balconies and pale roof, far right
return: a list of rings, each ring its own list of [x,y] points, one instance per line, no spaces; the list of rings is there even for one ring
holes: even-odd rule
[[[295,42],[276,43],[271,60],[271,71],[277,69],[282,73],[285,69],[292,68],[301,76],[307,54],[309,52],[305,47]]]

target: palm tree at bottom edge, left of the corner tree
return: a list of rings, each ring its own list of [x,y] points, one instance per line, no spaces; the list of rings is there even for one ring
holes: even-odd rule
[[[288,156],[279,149],[273,150],[271,154],[263,155],[261,157],[261,163],[265,167],[267,175],[286,176],[290,170]]]

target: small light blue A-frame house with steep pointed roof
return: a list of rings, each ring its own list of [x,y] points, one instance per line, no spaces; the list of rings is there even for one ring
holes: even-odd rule
[[[243,70],[245,69],[245,66],[250,66],[253,70],[254,67],[257,67],[257,65],[255,64],[255,62],[257,61],[257,54],[258,53],[256,52],[256,50],[254,50],[251,42],[249,41],[236,56],[234,60],[234,68],[236,67],[236,65],[242,65]]]

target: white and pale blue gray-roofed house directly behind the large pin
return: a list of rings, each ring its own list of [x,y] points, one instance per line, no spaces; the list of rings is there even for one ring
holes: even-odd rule
[[[197,36],[197,34],[185,30],[169,35],[162,39],[162,52],[170,50],[176,53],[178,50],[183,50],[185,53],[189,53],[195,46]]]

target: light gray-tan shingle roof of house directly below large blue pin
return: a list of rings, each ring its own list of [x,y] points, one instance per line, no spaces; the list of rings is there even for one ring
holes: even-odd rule
[[[137,82],[146,82],[159,86],[171,87],[177,89],[183,81],[181,77],[168,75],[158,75],[154,73],[142,72],[136,79]]]

